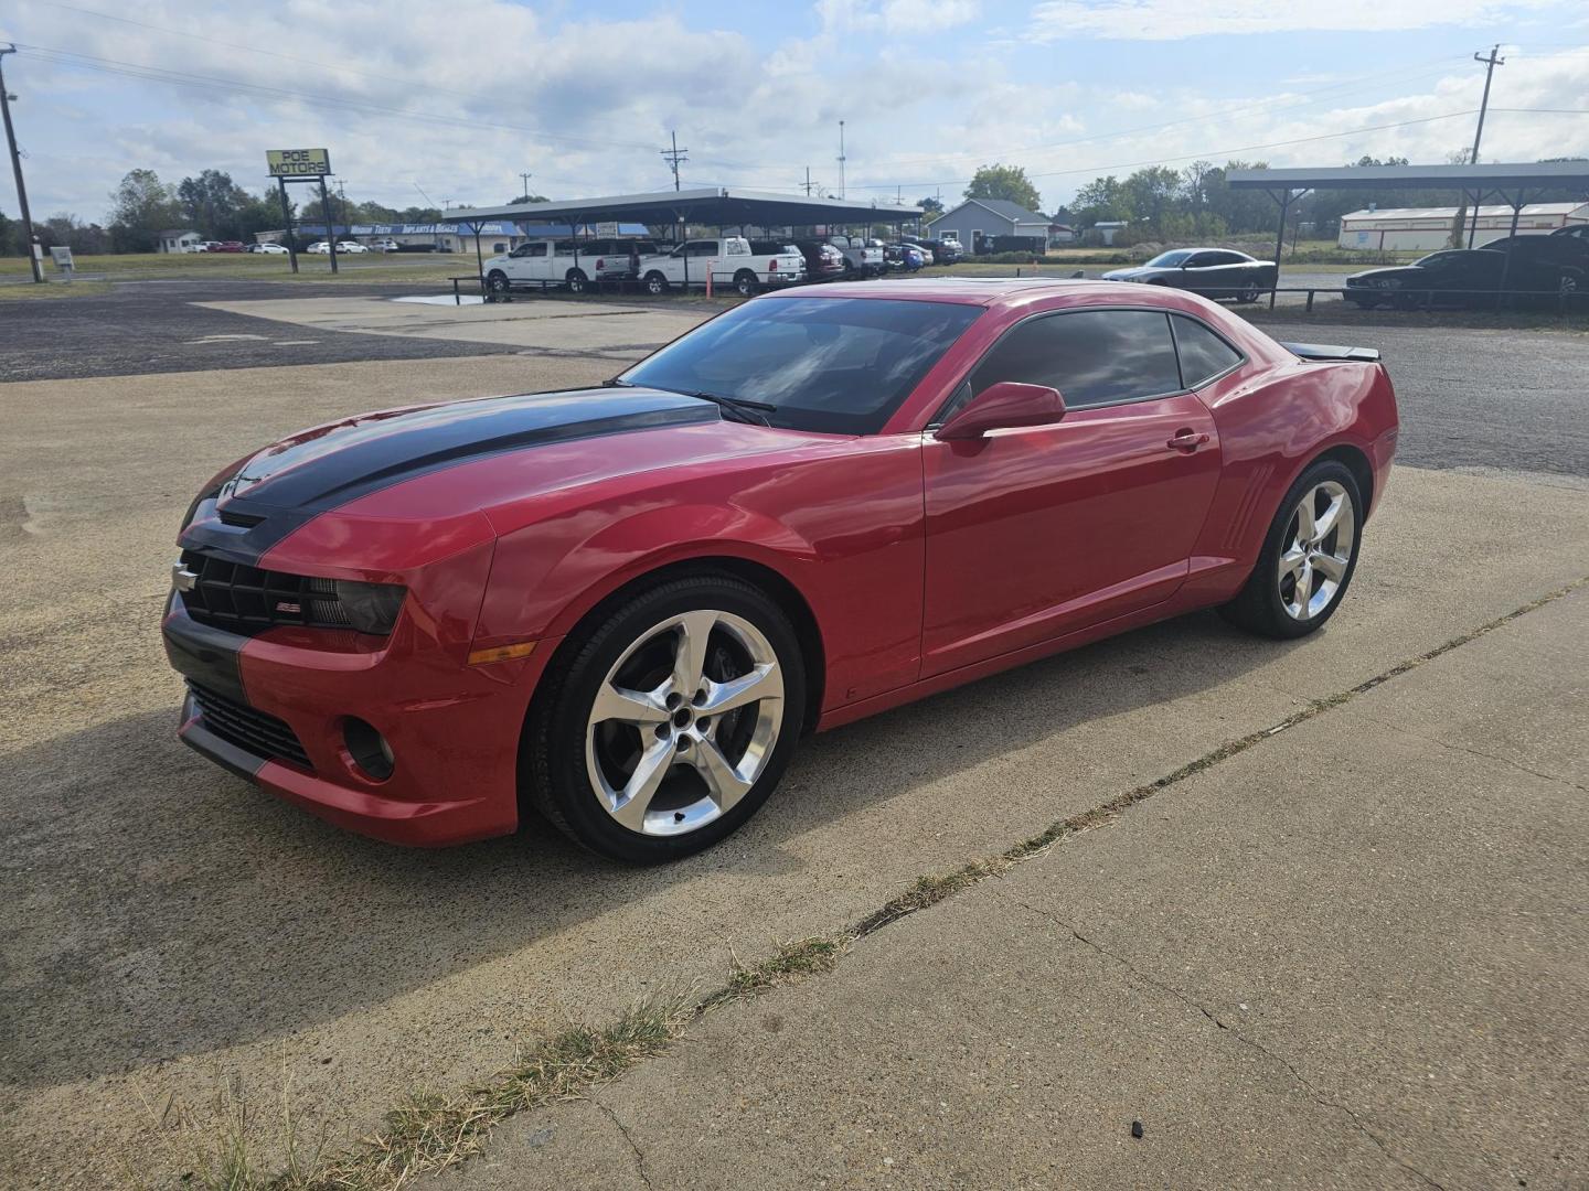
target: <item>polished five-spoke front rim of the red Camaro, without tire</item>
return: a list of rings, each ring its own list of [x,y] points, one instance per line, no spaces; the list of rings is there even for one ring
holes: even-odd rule
[[[728,611],[686,611],[640,634],[607,672],[585,769],[620,824],[683,835],[750,792],[782,724],[783,672],[766,635]]]

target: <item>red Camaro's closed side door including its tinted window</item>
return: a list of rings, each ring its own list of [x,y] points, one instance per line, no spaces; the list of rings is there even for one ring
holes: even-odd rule
[[[1052,386],[1068,410],[980,440],[925,435],[923,676],[1170,599],[1219,481],[1217,427],[1182,387],[1163,311],[1036,314],[939,418],[1006,380]]]

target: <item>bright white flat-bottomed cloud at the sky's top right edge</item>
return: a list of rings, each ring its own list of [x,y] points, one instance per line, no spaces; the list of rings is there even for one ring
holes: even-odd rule
[[[1490,25],[1549,0],[1041,0],[1033,37],[1174,41],[1185,37],[1290,32],[1384,33]]]

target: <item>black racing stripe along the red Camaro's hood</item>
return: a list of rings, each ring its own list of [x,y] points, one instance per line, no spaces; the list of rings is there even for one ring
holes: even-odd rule
[[[572,389],[373,413],[288,438],[200,499],[183,546],[254,564],[332,508],[447,467],[577,438],[720,419],[661,389]]]

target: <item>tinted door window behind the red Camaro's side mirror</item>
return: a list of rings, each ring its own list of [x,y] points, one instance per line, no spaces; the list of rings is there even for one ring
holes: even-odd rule
[[[1058,389],[1071,410],[1179,392],[1170,316],[1162,310],[1039,314],[993,345],[971,373],[971,394],[999,381]],[[957,392],[950,405],[961,403]]]

